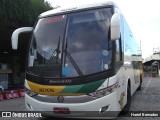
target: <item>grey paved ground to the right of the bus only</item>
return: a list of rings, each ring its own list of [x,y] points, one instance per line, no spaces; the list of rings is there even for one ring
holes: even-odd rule
[[[135,111],[160,113],[160,78],[147,77],[144,79],[142,90],[136,91],[132,96],[130,111],[131,113],[132,111],[133,113]],[[160,117],[119,117],[116,120],[160,120]]]

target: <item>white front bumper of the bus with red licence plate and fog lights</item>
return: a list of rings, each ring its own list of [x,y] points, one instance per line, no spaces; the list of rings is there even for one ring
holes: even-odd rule
[[[117,90],[107,96],[85,103],[42,102],[25,94],[25,105],[27,110],[41,112],[43,116],[64,118],[110,119],[118,116],[120,112]],[[55,111],[56,109],[58,109],[58,111]],[[66,109],[67,111],[65,111]]]

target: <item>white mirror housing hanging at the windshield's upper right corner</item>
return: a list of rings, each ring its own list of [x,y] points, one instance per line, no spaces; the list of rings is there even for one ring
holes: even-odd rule
[[[120,14],[115,13],[111,18],[110,28],[111,40],[120,39]]]

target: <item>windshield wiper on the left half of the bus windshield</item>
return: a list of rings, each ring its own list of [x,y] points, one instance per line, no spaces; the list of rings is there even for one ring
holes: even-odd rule
[[[59,40],[58,40],[58,45],[57,45],[57,48],[52,52],[52,55],[50,56],[50,58],[49,58],[49,60],[46,62],[46,64],[44,65],[44,67],[43,67],[43,69],[41,70],[41,72],[39,73],[39,76],[41,77],[42,75],[43,75],[43,72],[46,70],[46,68],[47,68],[47,66],[51,63],[51,62],[53,62],[52,60],[53,60],[53,58],[54,57],[56,57],[55,58],[55,64],[59,64],[59,58],[58,58],[58,56],[59,56],[59,54],[60,54],[60,37],[59,37]]]

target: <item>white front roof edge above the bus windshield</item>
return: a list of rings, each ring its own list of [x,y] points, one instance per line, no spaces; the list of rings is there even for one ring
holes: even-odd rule
[[[39,15],[39,18],[41,17],[47,17],[50,15],[56,15],[56,14],[60,14],[60,13],[67,13],[67,12],[71,12],[71,11],[77,11],[77,10],[83,10],[83,9],[87,9],[87,8],[94,8],[94,7],[104,7],[104,6],[116,6],[116,4],[113,1],[108,1],[108,0],[104,0],[103,2],[98,2],[98,1],[92,1],[91,3],[87,3],[87,4],[74,4],[72,6],[69,7],[57,7],[56,9],[53,10],[49,10],[47,12],[44,12],[42,14]]]

